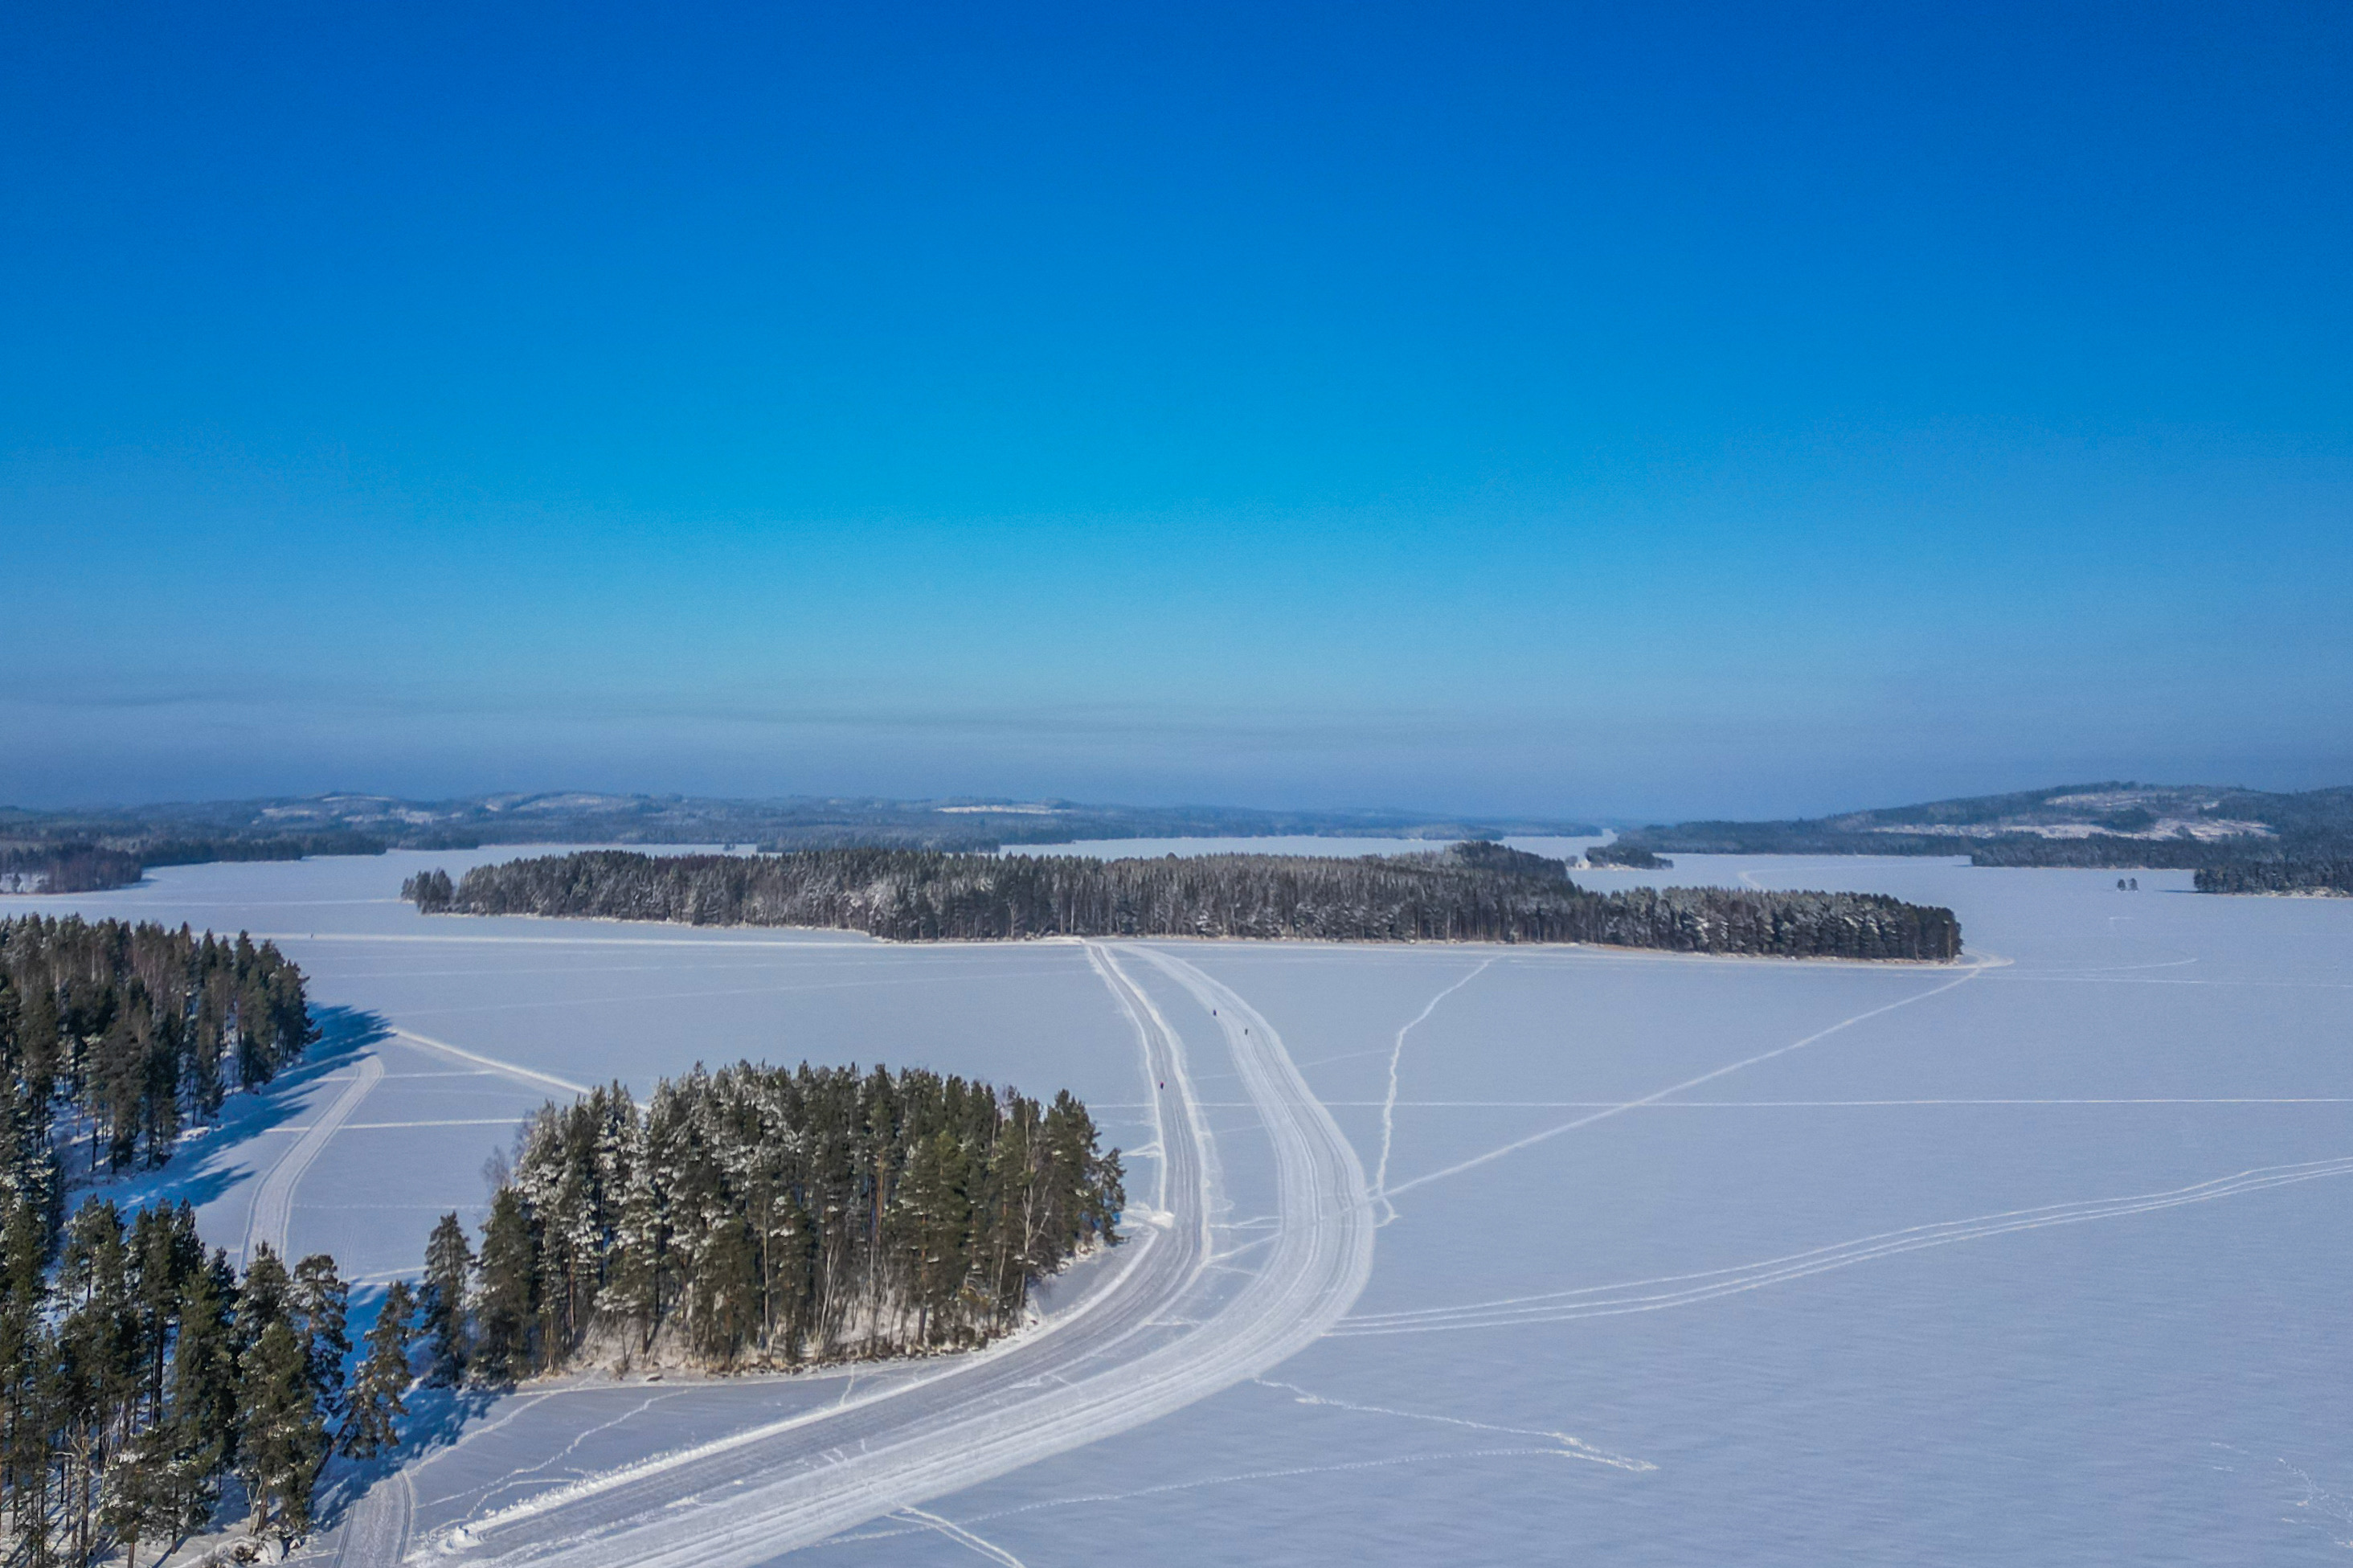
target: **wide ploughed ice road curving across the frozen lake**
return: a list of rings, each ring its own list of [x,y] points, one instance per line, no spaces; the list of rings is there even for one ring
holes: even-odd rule
[[[1257,1377],[1337,1323],[1372,1271],[1365,1172],[1264,1017],[1169,954],[1089,942],[1136,1026],[1155,1090],[1162,1182],[1115,1281],[998,1349],[889,1391],[656,1455],[412,1547],[398,1486],[353,1511],[344,1561],[440,1556],[562,1568],[751,1568],[871,1519],[1129,1431]],[[1240,1288],[1212,1276],[1217,1147],[1186,1048],[1132,963],[1217,1015],[1275,1156],[1275,1231]],[[1207,1022],[1207,1019],[1202,1019]],[[381,1500],[379,1500],[381,1493]],[[398,1544],[395,1544],[398,1542]]]

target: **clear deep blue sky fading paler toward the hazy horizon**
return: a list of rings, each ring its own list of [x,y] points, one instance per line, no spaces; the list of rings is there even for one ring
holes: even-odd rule
[[[2353,7],[7,7],[0,800],[2353,779]]]

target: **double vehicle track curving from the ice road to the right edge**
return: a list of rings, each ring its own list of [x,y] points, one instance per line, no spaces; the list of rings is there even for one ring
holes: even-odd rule
[[[1588,1285],[1584,1290],[1515,1295],[1497,1302],[1473,1302],[1466,1307],[1424,1307],[1419,1311],[1351,1316],[1332,1328],[1332,1337],[1348,1340],[1365,1335],[1511,1328],[1518,1323],[1569,1323],[1574,1318],[1607,1318],[1628,1311],[1664,1311],[1668,1307],[1689,1307],[1694,1302],[1713,1302],[1725,1295],[1762,1290],[1765,1285],[1807,1278],[1809,1274],[1847,1269],[1878,1257],[1953,1245],[1955,1241],[1984,1241],[1988,1236],[2007,1236],[2012,1231],[2040,1231],[2054,1224],[2120,1220],[2125,1215],[2146,1215],[2160,1208],[2181,1208],[2184,1203],[2212,1203],[2217,1198],[2235,1198],[2249,1191],[2271,1191],[2273,1187],[2294,1187],[2299,1182],[2320,1182],[2341,1175],[2353,1175],[2353,1158],[2259,1165],[2254,1170],[2240,1170],[2235,1175],[2177,1187],[2172,1191],[2148,1191],[2122,1198],[2087,1198],[2078,1203],[2047,1203],[2042,1208],[2014,1208],[1993,1215],[1977,1215],[1972,1220],[1913,1224],[1901,1231],[1859,1236],[1857,1241],[1840,1241],[1828,1248],[1767,1257],[1765,1262],[1741,1264],[1734,1269],[1664,1274],[1659,1278],[1640,1278],[1624,1285]]]

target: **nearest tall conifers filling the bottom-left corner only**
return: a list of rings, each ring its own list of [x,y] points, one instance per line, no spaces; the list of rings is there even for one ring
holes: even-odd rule
[[[136,1568],[242,1500],[282,1544],[311,1528],[334,1450],[398,1443],[409,1387],[409,1295],[393,1285],[346,1387],[351,1288],[325,1253],[287,1269],[268,1248],[242,1276],[205,1255],[195,1212],[129,1222],[89,1198],[47,1267],[40,1224],[12,1205],[0,1281],[0,1516],[9,1563]]]

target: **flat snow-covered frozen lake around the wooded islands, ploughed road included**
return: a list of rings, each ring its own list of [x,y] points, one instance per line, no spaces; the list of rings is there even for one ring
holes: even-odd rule
[[[313,977],[315,1067],[169,1172],[231,1248],[414,1271],[562,1083],[739,1055],[1066,1085],[1167,1222],[1132,1215],[1136,1245],[988,1366],[548,1384],[440,1415],[320,1552],[751,1563],[816,1528],[838,1533],[798,1561],[1031,1568],[2353,1542],[2353,902],[1918,859],[1579,873],[1960,911],[1972,963],[1864,968],[885,946],[393,899],[419,866],[508,855],[186,866],[0,909],[271,932]]]

